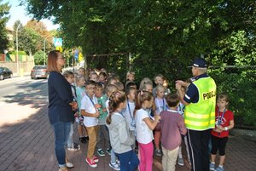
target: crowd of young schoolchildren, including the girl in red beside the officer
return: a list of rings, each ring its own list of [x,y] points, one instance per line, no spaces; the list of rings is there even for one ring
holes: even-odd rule
[[[77,74],[65,71],[63,75],[71,83],[74,100],[78,102],[79,110],[73,113],[80,142],[88,141],[85,161],[90,167],[96,168],[99,162],[95,152],[100,157],[107,152],[111,156],[109,166],[115,170],[136,170],[138,167],[140,171],[151,171],[154,154],[162,156],[164,171],[175,170],[176,162],[184,165],[182,140],[188,147],[183,120],[185,106],[177,93],[171,94],[162,75],[155,76],[154,83],[145,77],[139,86],[135,83],[134,72],[127,73],[125,84],[119,81],[119,76],[108,75],[105,70],[85,75],[84,68],[79,68]],[[234,126],[233,113],[226,109],[227,96],[219,96],[217,104],[218,124],[212,129],[211,170],[215,169],[217,151],[219,165],[223,166],[229,134],[226,127]],[[221,123],[223,118],[225,123]],[[80,146],[73,143],[73,125],[67,150],[78,151]]]

